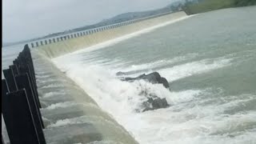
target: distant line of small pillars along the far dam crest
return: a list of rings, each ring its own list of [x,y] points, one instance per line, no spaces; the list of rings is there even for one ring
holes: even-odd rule
[[[62,35],[58,35],[55,37],[51,37],[51,38],[42,38],[40,40],[31,42],[29,44],[29,47],[31,48],[35,48],[38,46],[43,46],[43,45],[48,45],[51,43],[55,43],[55,42],[62,42],[62,41],[66,41],[70,38],[78,38],[78,37],[82,37],[82,36],[86,36],[89,34],[95,34],[104,30],[110,30],[110,29],[114,29],[120,26],[127,26],[133,23],[137,23],[137,22],[142,22],[144,20],[150,19],[150,18],[157,18],[163,15],[167,15],[167,14],[171,14],[172,12],[167,12],[167,13],[162,13],[162,14],[155,14],[149,17],[145,17],[145,18],[138,18],[138,19],[134,19],[134,20],[130,20],[130,21],[126,21],[126,22],[118,22],[112,25],[107,25],[107,26],[100,26],[100,27],[96,27],[94,29],[90,29],[90,30],[81,30],[81,31],[76,31],[76,32],[72,32],[70,34],[62,34]]]

